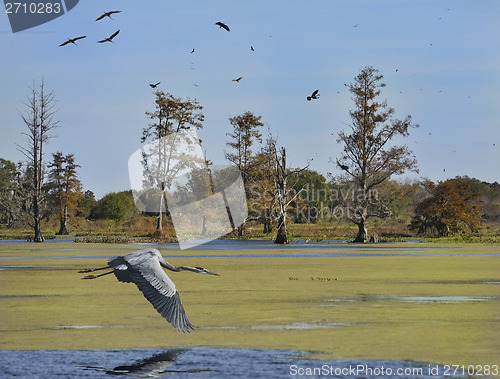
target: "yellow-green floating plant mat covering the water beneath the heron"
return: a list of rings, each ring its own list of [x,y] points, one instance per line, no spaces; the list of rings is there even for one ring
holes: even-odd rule
[[[12,258],[1,261],[0,348],[252,347],[308,350],[324,359],[495,363],[500,260],[488,254],[498,254],[498,245],[350,246],[328,252],[363,255],[265,256],[326,252],[285,247],[250,251],[262,258],[203,258],[197,256],[249,250],[160,249],[173,264],[221,274],[169,273],[197,326],[179,334],[134,285],[113,276],[83,281],[77,273],[141,246],[3,243],[0,256]],[[70,259],[82,255],[95,258]],[[15,258],[21,256],[32,258]],[[60,258],[47,258],[54,256]]]

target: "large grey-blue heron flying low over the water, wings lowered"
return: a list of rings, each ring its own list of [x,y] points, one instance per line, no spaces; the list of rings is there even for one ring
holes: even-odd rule
[[[194,330],[194,327],[186,316],[174,282],[167,276],[162,267],[175,272],[191,271],[197,274],[219,276],[219,274],[208,271],[203,267],[174,266],[168,263],[157,249],[135,251],[110,259],[106,267],[89,268],[78,272],[88,273],[111,269],[111,271],[104,274],[87,275],[82,279],[96,279],[113,273],[120,282],[135,283],[144,297],[153,304],[153,307],[162,317],[179,332],[184,333],[187,331],[189,333],[189,329]]]

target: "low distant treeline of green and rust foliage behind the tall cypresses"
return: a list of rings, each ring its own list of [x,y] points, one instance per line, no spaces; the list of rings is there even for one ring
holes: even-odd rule
[[[15,164],[0,158],[0,224],[4,228],[29,228],[30,166]],[[50,179],[50,176],[49,176]],[[60,179],[60,178],[59,178]],[[49,201],[44,209],[45,219],[54,221],[60,215],[61,195],[55,190],[57,178],[45,184]],[[289,178],[290,207],[288,220],[293,223],[321,223],[345,220],[349,217],[349,204],[358,190],[349,184],[327,180],[322,174],[305,169]],[[110,192],[96,199],[90,190],[79,193],[74,207],[69,207],[67,217],[75,220],[113,220],[127,223],[144,214],[135,207],[131,191]],[[249,185],[247,202],[249,220],[263,222],[262,207],[266,196],[258,186]],[[386,218],[407,223],[415,234],[453,235],[476,233],[482,222],[500,222],[500,184],[488,183],[467,176],[443,182],[387,180],[369,196],[375,197],[384,207]],[[263,222],[264,223],[264,222]],[[72,222],[78,225],[78,222]],[[264,225],[265,226],[265,225]],[[268,230],[269,232],[269,230]]]

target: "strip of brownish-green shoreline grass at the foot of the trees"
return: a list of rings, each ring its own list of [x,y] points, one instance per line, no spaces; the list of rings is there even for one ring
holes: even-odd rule
[[[175,230],[171,222],[165,222],[163,235],[156,236],[155,218],[136,216],[126,222],[112,220],[89,221],[80,218],[71,219],[67,236],[55,234],[58,229],[58,220],[46,222],[43,235],[47,240],[59,238],[74,238],[79,242],[105,243],[134,243],[134,242],[175,242]],[[408,229],[409,220],[401,219],[373,219],[369,224],[369,234],[377,233],[380,242],[404,242],[406,240],[424,240],[436,243],[494,243],[500,244],[500,224],[497,221],[484,222],[483,228],[477,235],[459,235],[450,237],[420,237]],[[353,240],[357,227],[347,221],[336,220],[320,221],[317,223],[288,223],[288,234],[291,240],[325,240],[342,239]],[[262,225],[255,221],[246,224],[245,239],[273,240],[276,231],[264,234]],[[28,240],[33,231],[26,229],[0,228],[0,240],[20,239]],[[230,233],[225,238],[237,239],[236,233]]]

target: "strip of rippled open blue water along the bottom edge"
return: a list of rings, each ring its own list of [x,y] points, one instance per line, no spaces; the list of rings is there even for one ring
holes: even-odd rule
[[[266,349],[0,351],[0,372],[22,378],[437,378],[444,366],[396,360],[314,360],[310,353]],[[328,371],[328,374],[326,372]],[[351,373],[351,374],[349,374]],[[355,373],[355,375],[352,375]],[[463,376],[447,375],[446,378]]]

